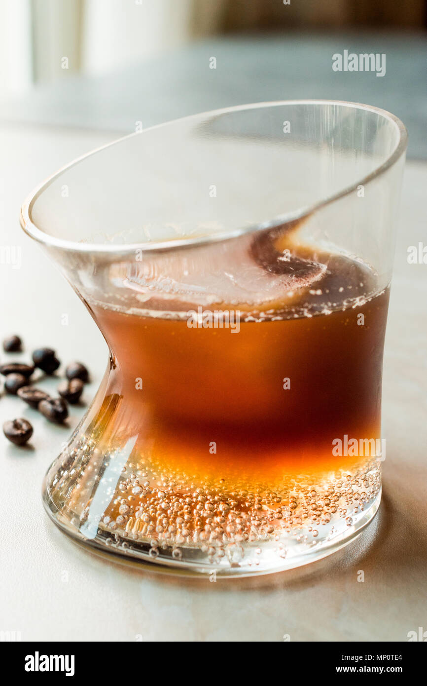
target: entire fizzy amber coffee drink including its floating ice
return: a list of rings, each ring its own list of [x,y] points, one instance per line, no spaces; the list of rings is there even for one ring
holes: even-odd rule
[[[363,262],[295,242],[297,228],[136,255],[109,275],[132,292],[125,306],[87,303],[110,375],[49,475],[53,498],[65,491],[72,506],[75,490],[83,533],[233,564],[248,543],[284,558],[329,542],[376,501],[389,291]],[[103,480],[112,470],[94,501],[93,451]]]

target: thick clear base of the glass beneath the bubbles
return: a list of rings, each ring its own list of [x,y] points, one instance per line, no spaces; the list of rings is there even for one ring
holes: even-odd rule
[[[369,504],[352,513],[337,525],[336,520],[321,525],[321,532],[313,530],[302,535],[297,531],[280,532],[265,536],[263,540],[232,541],[222,547],[210,545],[170,545],[167,541],[144,539],[132,533],[112,532],[98,527],[90,537],[84,534],[82,517],[67,517],[49,495],[47,479],[43,484],[43,504],[49,517],[77,543],[90,547],[93,552],[114,556],[121,563],[149,567],[152,571],[178,573],[185,576],[243,577],[294,569],[320,560],[356,539],[374,519],[380,506],[381,490]],[[84,517],[83,517],[84,519]],[[319,539],[313,538],[316,531]],[[312,534],[311,536],[309,534]]]

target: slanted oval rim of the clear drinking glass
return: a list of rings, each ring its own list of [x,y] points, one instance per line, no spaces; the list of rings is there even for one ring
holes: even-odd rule
[[[121,143],[122,141],[125,141],[127,139],[130,139],[131,137],[134,136],[141,136],[142,134],[147,133],[148,131],[158,129],[162,126],[171,126],[174,123],[177,123],[179,121],[189,121],[191,119],[196,119],[198,117],[209,117],[209,116],[217,116],[217,115],[224,115],[227,113],[231,112],[239,112],[243,110],[252,110],[252,109],[262,109],[262,108],[269,108],[269,107],[277,107],[277,106],[285,106],[285,105],[343,105],[347,106],[350,108],[354,109],[361,109],[361,110],[367,110],[372,113],[376,113],[385,119],[388,119],[391,121],[391,123],[394,124],[396,129],[398,130],[398,143],[387,158],[382,164],[380,164],[378,167],[373,169],[373,171],[369,172],[366,176],[364,176],[361,179],[358,179],[356,182],[351,184],[350,186],[345,187],[341,191],[338,191],[337,193],[333,193],[332,196],[329,196],[328,198],[325,198],[324,200],[320,200],[319,202],[315,202],[314,204],[300,208],[300,209],[295,209],[294,211],[284,213],[282,215],[276,215],[273,217],[271,220],[267,220],[265,222],[257,222],[256,224],[249,224],[249,226],[244,226],[241,228],[236,228],[235,230],[228,230],[228,231],[223,231],[219,233],[212,233],[208,234],[205,236],[199,236],[199,237],[193,237],[193,238],[183,238],[183,239],[169,239],[167,241],[141,241],[138,243],[123,243],[123,244],[103,244],[103,243],[83,243],[80,241],[69,241],[68,239],[62,239],[58,238],[56,236],[50,235],[49,233],[46,233],[46,231],[42,230],[36,224],[32,222],[32,206],[34,205],[34,202],[42,195],[42,193],[55,181],[61,174],[64,173],[64,171],[67,171],[67,169],[71,169],[75,165],[79,164],[80,162],[84,161],[86,158],[91,157],[98,152],[101,152],[102,150],[106,150],[108,147],[112,147],[113,145],[117,145],[118,143]],[[189,115],[186,117],[179,117],[178,119],[171,119],[171,121],[164,121],[160,124],[156,124],[155,126],[150,126],[149,128],[143,129],[141,132],[133,132],[131,134],[126,134],[125,136],[120,137],[119,139],[115,141],[111,141],[110,143],[106,143],[105,145],[101,145],[100,147],[95,148],[95,150],[91,150],[90,152],[86,152],[85,154],[81,155],[80,157],[75,158],[73,161],[70,163],[64,165],[58,171],[54,172],[51,176],[49,176],[47,179],[42,181],[36,188],[29,193],[29,196],[25,199],[21,206],[21,213],[20,213],[20,224],[21,228],[25,231],[29,237],[35,239],[39,243],[51,247],[51,248],[60,248],[61,250],[64,251],[72,251],[72,252],[90,252],[90,253],[98,253],[98,254],[106,254],[106,253],[112,253],[114,255],[120,255],[121,253],[127,253],[130,251],[134,250],[143,250],[143,251],[153,251],[153,252],[162,252],[164,250],[174,250],[174,249],[182,249],[182,248],[194,248],[197,246],[202,246],[202,245],[208,245],[212,243],[217,243],[220,241],[225,241],[229,239],[233,239],[236,237],[239,237],[244,234],[250,234],[250,233],[256,233],[257,231],[260,230],[268,230],[271,228],[275,228],[276,226],[281,226],[282,224],[286,222],[291,222],[295,220],[300,220],[303,217],[308,217],[308,215],[313,214],[315,211],[320,209],[321,207],[324,207],[328,204],[331,204],[332,202],[335,202],[336,200],[339,200],[340,198],[343,198],[344,196],[350,195],[350,193],[356,191],[359,185],[367,185],[371,180],[374,180],[374,178],[377,178],[380,176],[380,174],[383,174],[387,169],[392,167],[395,162],[398,161],[398,159],[404,154],[406,151],[406,147],[408,144],[408,132],[406,130],[406,126],[404,126],[404,123],[398,118],[395,117],[395,115],[391,114],[387,110],[382,110],[381,108],[375,107],[373,105],[365,105],[362,103],[358,102],[350,102],[347,100],[329,100],[329,99],[296,99],[296,100],[273,100],[271,102],[255,102],[255,103],[250,103],[250,104],[245,104],[245,105],[236,105],[232,107],[225,107],[225,108],[220,108],[217,110],[206,110],[205,112],[202,113],[197,113],[195,115]]]

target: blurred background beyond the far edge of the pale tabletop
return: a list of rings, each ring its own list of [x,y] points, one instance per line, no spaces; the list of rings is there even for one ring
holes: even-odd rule
[[[147,127],[246,102],[349,99],[398,115],[409,129],[409,155],[426,158],[426,7],[426,0],[1,0],[0,119],[123,134],[136,122]],[[344,49],[385,54],[385,76],[332,71],[332,55]]]

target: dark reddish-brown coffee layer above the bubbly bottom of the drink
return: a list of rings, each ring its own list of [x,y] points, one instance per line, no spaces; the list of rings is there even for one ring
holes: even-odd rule
[[[239,332],[93,308],[114,358],[107,395],[118,414],[125,407],[116,434],[138,435],[141,453],[149,439],[173,471],[230,486],[233,475],[274,485],[283,473],[336,469],[334,438],[380,438],[389,292],[361,298],[372,274],[329,263],[304,293],[306,316],[295,301],[255,321],[242,312]]]

